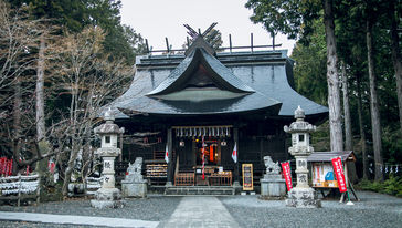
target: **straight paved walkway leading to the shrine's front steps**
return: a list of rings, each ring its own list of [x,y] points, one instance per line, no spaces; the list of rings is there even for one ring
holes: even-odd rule
[[[161,221],[158,227],[239,228],[240,226],[216,197],[188,196],[181,199],[171,217],[167,221]]]

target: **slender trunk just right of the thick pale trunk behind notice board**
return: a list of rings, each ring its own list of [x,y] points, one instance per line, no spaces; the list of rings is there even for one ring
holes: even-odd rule
[[[346,66],[342,62],[342,94],[343,94],[343,115],[345,115],[345,149],[352,151],[352,133],[351,133],[351,117],[349,108],[349,91],[348,91],[348,76],[346,74]],[[349,180],[356,183],[358,180],[358,175],[356,172],[355,163],[347,163]]]

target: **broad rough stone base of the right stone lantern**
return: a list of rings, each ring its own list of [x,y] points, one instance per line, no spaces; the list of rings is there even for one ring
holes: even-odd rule
[[[286,206],[296,208],[318,208],[321,200],[313,188],[293,188],[287,193]]]

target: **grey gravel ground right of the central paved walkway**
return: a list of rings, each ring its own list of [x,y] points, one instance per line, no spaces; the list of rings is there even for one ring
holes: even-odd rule
[[[402,227],[402,199],[359,191],[355,206],[324,200],[322,208],[296,209],[257,196],[220,197],[241,227]]]

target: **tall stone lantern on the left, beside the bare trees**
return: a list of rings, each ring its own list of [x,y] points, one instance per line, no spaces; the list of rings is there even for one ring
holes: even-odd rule
[[[114,116],[110,110],[105,113],[106,123],[95,127],[95,134],[102,138],[102,146],[96,151],[103,160],[102,187],[96,191],[95,199],[91,200],[91,206],[95,208],[116,208],[123,207],[120,190],[115,187],[115,158],[120,154],[117,148],[117,136],[124,133],[113,122]]]

